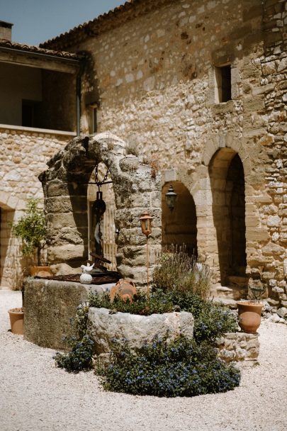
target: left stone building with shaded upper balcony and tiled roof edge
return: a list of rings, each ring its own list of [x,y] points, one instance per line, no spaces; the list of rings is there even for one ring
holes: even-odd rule
[[[18,242],[11,222],[28,197],[43,200],[38,175],[77,135],[79,56],[11,42],[0,21],[0,257],[1,287],[21,286]]]

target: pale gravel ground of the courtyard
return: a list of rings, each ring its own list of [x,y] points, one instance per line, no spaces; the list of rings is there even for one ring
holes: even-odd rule
[[[259,328],[259,366],[242,370],[239,388],[194,398],[104,392],[90,372],[55,368],[54,351],[9,332],[21,293],[0,291],[1,431],[287,430],[287,326]]]

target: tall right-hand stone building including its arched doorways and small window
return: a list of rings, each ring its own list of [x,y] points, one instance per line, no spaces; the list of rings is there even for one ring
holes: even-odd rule
[[[234,294],[268,287],[273,306],[287,305],[286,7],[131,0],[41,45],[84,56],[80,133],[108,130],[161,172],[162,243],[186,242]]]

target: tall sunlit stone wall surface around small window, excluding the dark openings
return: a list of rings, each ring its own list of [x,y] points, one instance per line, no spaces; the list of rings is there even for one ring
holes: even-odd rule
[[[196,203],[198,254],[221,282],[208,167],[215,152],[226,169],[238,154],[249,286],[269,286],[269,296],[280,293],[286,301],[285,1],[157,5],[141,13],[146,6],[139,2],[133,18],[111,16],[109,30],[69,47],[91,53],[94,69],[84,76],[83,101],[89,92],[98,94],[99,131],[133,142],[188,188]],[[215,67],[224,65],[231,67],[232,100],[218,103]],[[82,111],[86,132],[84,103]],[[226,178],[220,181],[224,187]]]

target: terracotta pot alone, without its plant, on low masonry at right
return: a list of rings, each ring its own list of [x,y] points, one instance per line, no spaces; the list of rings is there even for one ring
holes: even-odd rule
[[[249,301],[237,302],[239,325],[243,332],[255,334],[261,323],[263,304]]]

